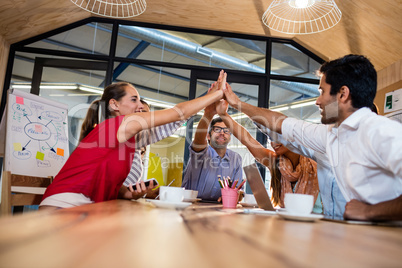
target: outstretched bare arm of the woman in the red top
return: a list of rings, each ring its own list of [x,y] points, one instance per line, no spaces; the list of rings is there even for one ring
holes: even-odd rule
[[[143,129],[189,118],[206,106],[222,99],[222,87],[225,82],[226,73],[221,71],[218,79],[219,90],[217,91],[211,91],[202,97],[179,103],[170,109],[127,115],[117,131],[118,141],[125,142]]]

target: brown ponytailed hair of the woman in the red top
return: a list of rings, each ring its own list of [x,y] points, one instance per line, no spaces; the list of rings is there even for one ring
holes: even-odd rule
[[[112,113],[109,109],[109,101],[115,99],[119,101],[126,95],[126,86],[134,87],[128,82],[118,82],[111,84],[105,88],[100,100],[91,103],[88,108],[87,115],[81,127],[80,141],[91,132],[99,122],[99,107],[101,106],[101,121],[111,117]]]

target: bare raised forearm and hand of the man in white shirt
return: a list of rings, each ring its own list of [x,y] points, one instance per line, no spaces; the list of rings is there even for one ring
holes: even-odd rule
[[[272,131],[282,134],[282,122],[286,119],[284,114],[242,102],[232,91],[232,88],[229,86],[229,84],[226,84],[226,88],[223,88],[223,92],[225,93],[225,98],[229,102],[230,106],[245,113],[253,121],[266,126]]]

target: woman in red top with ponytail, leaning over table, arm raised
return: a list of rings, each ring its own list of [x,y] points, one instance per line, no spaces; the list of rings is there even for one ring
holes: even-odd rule
[[[91,105],[83,123],[82,140],[46,189],[40,209],[73,207],[116,198],[133,199],[151,191],[152,183],[147,188],[141,182],[137,190],[122,185],[135,152],[135,134],[187,119],[222,99],[222,87],[226,82],[223,71],[218,82],[218,90],[202,97],[170,109],[142,113],[138,113],[143,104],[133,85],[121,82],[106,87],[102,98]],[[101,123],[98,122],[99,108],[104,110],[106,118]]]

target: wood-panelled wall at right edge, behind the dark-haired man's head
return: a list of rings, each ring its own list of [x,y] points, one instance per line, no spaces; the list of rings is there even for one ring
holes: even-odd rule
[[[374,103],[384,115],[385,94],[402,88],[402,59],[377,72],[377,95]]]

